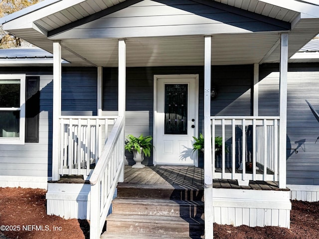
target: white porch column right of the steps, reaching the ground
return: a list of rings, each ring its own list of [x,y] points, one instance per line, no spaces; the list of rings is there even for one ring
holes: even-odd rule
[[[211,36],[205,36],[204,56],[204,198],[205,238],[213,238],[213,168],[210,126]]]

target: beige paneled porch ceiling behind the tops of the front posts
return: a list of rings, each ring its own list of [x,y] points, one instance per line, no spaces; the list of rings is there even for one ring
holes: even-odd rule
[[[278,33],[215,35],[212,38],[212,64],[260,62],[278,40]],[[118,65],[117,39],[62,40],[61,43],[97,66]],[[90,47],[86,47],[88,45]],[[126,47],[128,67],[204,65],[204,37],[201,35],[128,38]],[[63,52],[67,54],[65,50]]]

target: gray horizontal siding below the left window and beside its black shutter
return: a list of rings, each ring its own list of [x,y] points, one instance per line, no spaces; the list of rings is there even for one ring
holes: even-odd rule
[[[14,71],[12,74],[15,73]],[[0,144],[0,175],[51,176],[52,79],[52,75],[40,75],[39,142],[24,145]],[[50,101],[50,104],[43,104],[43,100]]]

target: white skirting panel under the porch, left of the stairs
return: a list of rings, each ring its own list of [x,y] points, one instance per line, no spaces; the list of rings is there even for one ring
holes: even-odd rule
[[[90,220],[90,184],[49,183],[46,193],[48,215]]]

